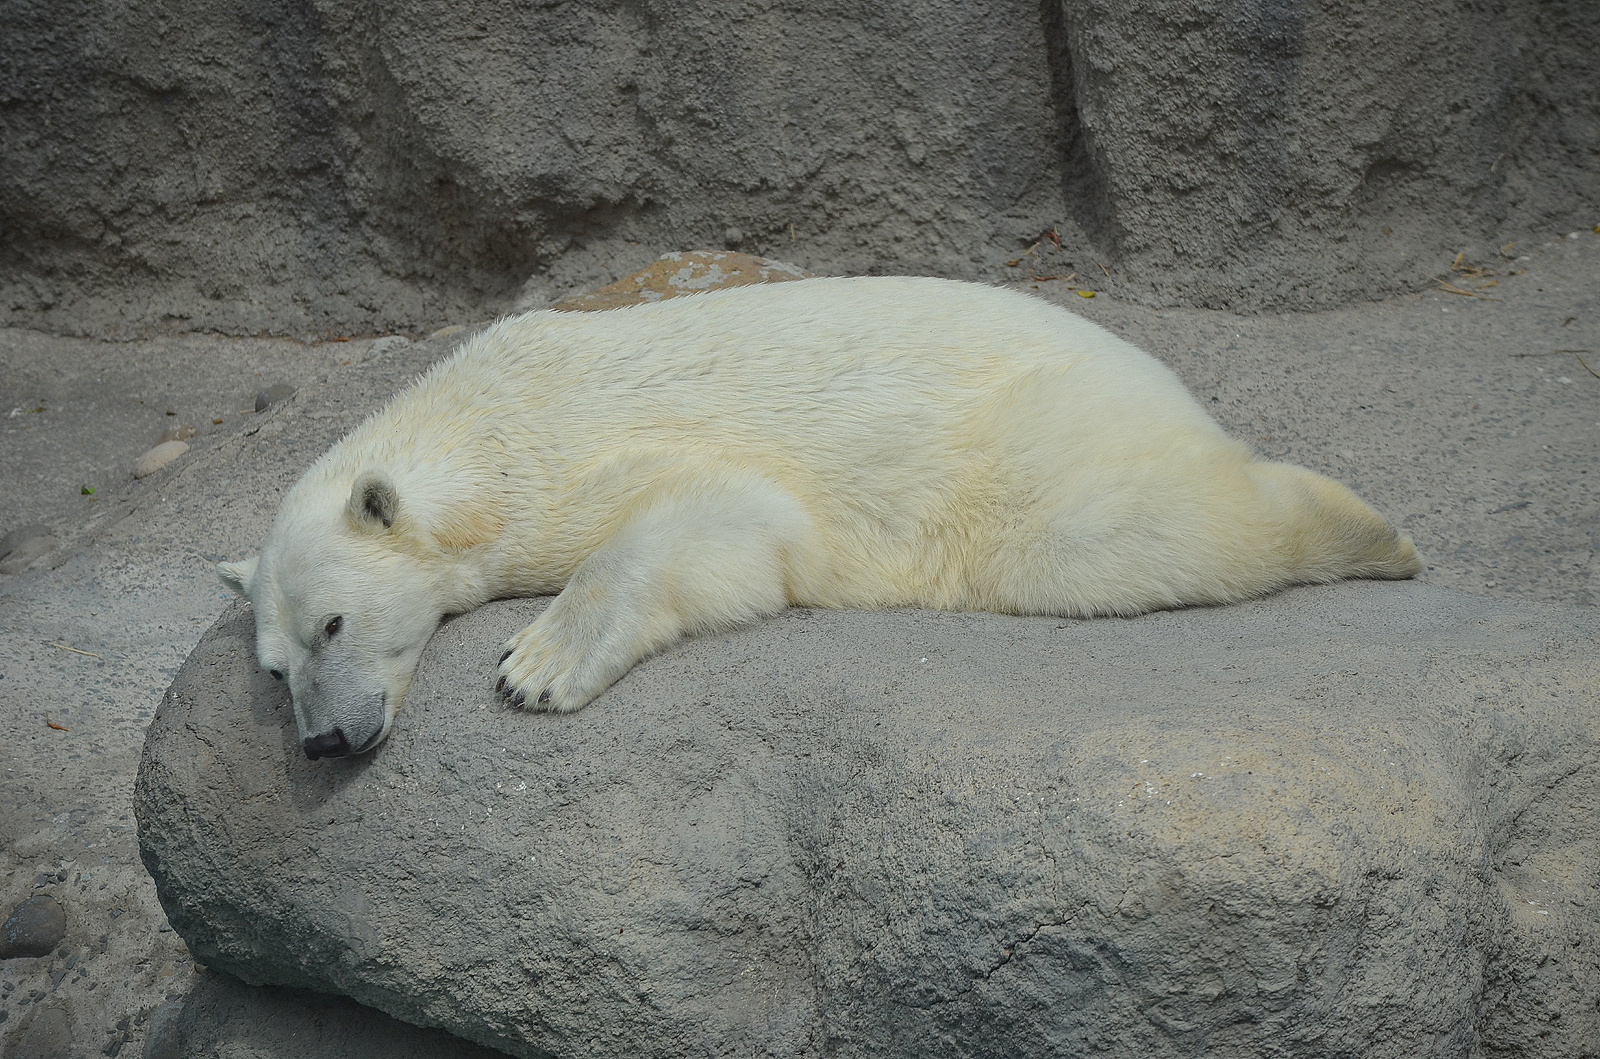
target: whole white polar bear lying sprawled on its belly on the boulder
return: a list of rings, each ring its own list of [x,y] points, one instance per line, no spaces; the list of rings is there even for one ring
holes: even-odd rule
[[[498,689],[565,712],[789,605],[1128,616],[1419,565],[1109,331],[890,277],[502,320],[322,456],[219,574],[318,758],[381,742],[438,622],[494,598],[555,593]]]

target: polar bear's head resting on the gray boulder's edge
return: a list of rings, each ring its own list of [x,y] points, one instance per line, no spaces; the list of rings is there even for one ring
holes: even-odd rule
[[[309,758],[362,753],[394,725],[443,617],[437,563],[379,472],[342,491],[296,486],[261,555],[218,574],[256,611],[261,667],[286,680]]]

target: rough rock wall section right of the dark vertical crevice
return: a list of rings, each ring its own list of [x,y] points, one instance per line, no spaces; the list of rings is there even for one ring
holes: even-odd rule
[[[1539,210],[1600,219],[1594,3],[1046,0],[1045,24],[1112,290],[1328,304]]]

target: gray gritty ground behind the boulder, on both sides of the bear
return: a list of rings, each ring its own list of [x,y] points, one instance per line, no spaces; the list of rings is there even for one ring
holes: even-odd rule
[[[1496,275],[1448,278],[1493,280],[1483,298],[1318,314],[1152,310],[1061,282],[1037,293],[1166,360],[1267,456],[1354,486],[1414,537],[1427,581],[1592,606],[1600,378],[1579,357],[1600,371],[1600,235],[1474,264]],[[53,955],[0,963],[0,1056],[139,1054],[150,1013],[189,989],[194,963],[133,829],[144,728],[227,601],[213,563],[250,553],[299,470],[451,341],[374,354],[0,331],[0,533],[37,523],[58,541],[30,563],[0,558],[0,915],[32,894],[67,915]],[[296,395],[254,413],[278,382]],[[182,424],[194,450],[133,480]]]

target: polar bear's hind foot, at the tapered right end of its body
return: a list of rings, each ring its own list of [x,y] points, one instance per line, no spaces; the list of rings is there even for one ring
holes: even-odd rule
[[[1403,579],[1422,571],[1411,537],[1333,478],[1266,462],[1253,464],[1251,477],[1283,520],[1283,560],[1294,581]]]

